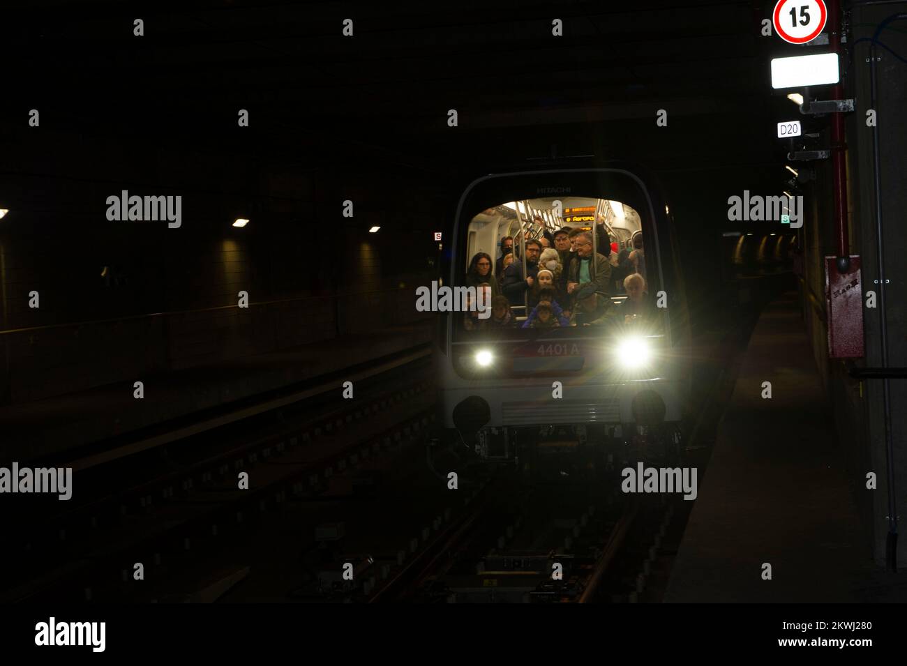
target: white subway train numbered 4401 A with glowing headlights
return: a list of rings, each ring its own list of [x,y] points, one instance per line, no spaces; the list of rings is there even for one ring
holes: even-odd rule
[[[558,259],[549,252],[539,268],[556,234]],[[513,259],[501,270],[505,238]],[[472,309],[440,317],[434,446],[465,447],[485,461],[552,450],[585,451],[605,465],[678,458],[690,329],[670,209],[655,179],[610,163],[484,176],[463,191],[443,256],[440,281],[464,290],[467,274],[490,263],[477,288],[490,295],[497,280],[499,307],[489,316],[471,294]],[[559,288],[538,273],[549,268]],[[557,299],[565,303],[554,307]],[[560,311],[556,323],[549,310]]]

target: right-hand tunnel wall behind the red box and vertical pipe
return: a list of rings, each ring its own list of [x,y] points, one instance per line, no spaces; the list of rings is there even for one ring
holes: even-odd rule
[[[877,62],[878,101],[874,108],[877,126],[867,126],[867,111],[872,107],[870,86],[869,44],[857,42],[871,38],[875,26],[892,14],[907,12],[907,2],[891,5],[852,5],[850,24],[852,56],[843,64],[845,93],[852,97],[855,111],[846,115],[848,217],[850,221],[851,254],[862,259],[864,304],[868,292],[878,296],[880,286],[877,259],[876,218],[873,184],[873,131],[878,132],[880,144],[880,178],[882,188],[883,258],[885,277],[890,280],[886,291],[888,348],[890,367],[907,366],[907,311],[905,311],[903,248],[907,247],[907,225],[903,211],[907,209],[907,182],[905,182],[905,156],[907,156],[907,65],[900,63],[884,48],[879,48],[881,61]],[[907,21],[892,24],[895,30],[886,30],[879,39],[885,46],[900,55],[907,55]],[[828,89],[830,90],[830,89]],[[827,93],[826,93],[827,94]],[[820,97],[819,99],[826,99]],[[830,139],[823,134],[824,145]],[[820,313],[809,304],[805,289],[814,291],[824,303],[823,257],[836,254],[834,241],[834,204],[831,191],[831,160],[816,164],[817,182],[814,184],[813,215],[806,220],[803,238],[806,247],[805,285],[801,289],[807,326],[810,330],[817,366],[823,374],[824,384],[834,410],[834,420],[840,443],[848,460],[848,473],[863,524],[866,527],[867,552],[874,561],[884,564],[885,540],[888,532],[888,482],[885,453],[885,419],[883,407],[883,382],[880,380],[856,381],[849,376],[852,364],[830,360],[827,328]],[[824,308],[823,308],[824,310]],[[881,306],[863,308],[865,357],[857,360],[858,367],[880,367]],[[907,436],[907,386],[903,380],[891,380],[891,432],[894,446],[894,491],[897,497],[897,515],[903,528],[907,519],[907,450],[903,443]],[[876,489],[867,488],[866,475],[873,472],[877,478]],[[907,546],[899,547],[898,565],[907,565]]]

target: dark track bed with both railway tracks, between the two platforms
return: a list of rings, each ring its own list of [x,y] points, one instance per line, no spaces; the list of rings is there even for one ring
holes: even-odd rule
[[[688,507],[678,511],[663,497],[628,501],[604,460],[595,472],[564,467],[568,474],[557,472],[558,454],[540,454],[532,464],[547,471],[533,480],[525,465],[494,467],[461,449],[465,458],[431,469],[426,370],[405,365],[393,389],[377,390],[385,376],[353,404],[321,403],[316,414],[285,404],[267,419],[229,420],[229,430],[224,424],[197,441],[171,440],[85,468],[80,483],[118,466],[130,475],[115,491],[45,514],[44,543],[25,542],[14,558],[23,574],[0,599],[658,600],[649,581],[663,574],[656,569],[669,559],[668,527],[682,531]],[[702,449],[688,446],[694,455]],[[444,479],[451,468],[460,472],[455,491]],[[240,472],[249,474],[248,490],[237,487]],[[54,566],[37,556],[48,552]],[[139,563],[143,580],[134,577]],[[346,565],[352,580],[342,574]],[[256,583],[237,585],[245,578]]]

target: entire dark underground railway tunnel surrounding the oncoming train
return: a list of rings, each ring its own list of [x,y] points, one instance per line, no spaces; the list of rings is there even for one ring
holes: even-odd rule
[[[0,599],[907,599],[907,4],[800,4],[5,8]]]

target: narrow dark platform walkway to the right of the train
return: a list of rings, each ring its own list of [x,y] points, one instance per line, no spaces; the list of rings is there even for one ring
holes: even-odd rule
[[[907,600],[905,576],[873,564],[851,493],[796,294],[787,293],[756,323],[663,601]]]

